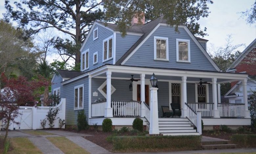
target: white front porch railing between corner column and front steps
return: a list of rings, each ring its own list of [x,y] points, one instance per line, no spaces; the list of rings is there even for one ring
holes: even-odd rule
[[[113,116],[115,117],[139,117],[140,101],[112,101]]]

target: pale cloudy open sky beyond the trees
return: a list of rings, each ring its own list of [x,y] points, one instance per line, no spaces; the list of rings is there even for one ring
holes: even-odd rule
[[[250,9],[253,3],[254,0],[214,0],[213,4],[209,4],[211,13],[207,18],[198,21],[202,29],[207,28],[208,36],[204,37],[209,40],[207,47],[211,45],[224,46],[227,35],[232,34],[234,45],[245,44],[245,46],[238,48],[242,52],[256,38],[256,25],[247,24],[238,12]],[[0,18],[3,17],[2,14],[5,11],[4,0],[0,0]],[[58,58],[59,56],[55,54],[47,57],[50,62]],[[59,58],[59,60],[61,59]]]

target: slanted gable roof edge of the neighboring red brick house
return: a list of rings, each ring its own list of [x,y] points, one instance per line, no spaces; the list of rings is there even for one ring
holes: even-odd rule
[[[244,49],[244,51],[236,58],[236,60],[230,65],[230,67],[227,68],[227,71],[235,68],[245,58],[245,56],[255,47],[256,38],[249,44],[248,47]]]

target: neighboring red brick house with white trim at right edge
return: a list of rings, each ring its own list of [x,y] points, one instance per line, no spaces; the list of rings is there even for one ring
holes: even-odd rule
[[[256,90],[256,39],[245,48],[245,50],[237,57],[237,59],[227,69],[228,72],[247,73],[247,95],[251,94],[251,91]],[[243,83],[241,81],[232,82],[231,89],[224,95],[228,98],[229,103],[244,103],[243,102]]]

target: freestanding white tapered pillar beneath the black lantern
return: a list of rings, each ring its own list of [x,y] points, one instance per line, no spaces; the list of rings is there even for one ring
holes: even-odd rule
[[[155,87],[150,88],[149,134],[159,134],[157,90]]]

